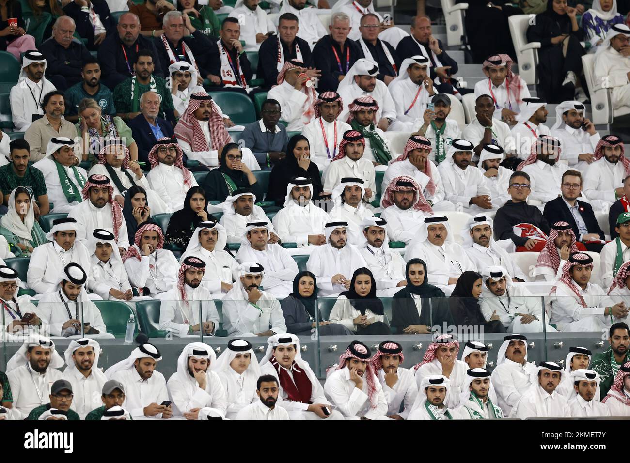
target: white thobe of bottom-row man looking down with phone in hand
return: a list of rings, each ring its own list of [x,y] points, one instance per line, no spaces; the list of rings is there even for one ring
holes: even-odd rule
[[[159,405],[169,399],[164,375],[157,370],[153,370],[149,379],[142,379],[132,365],[128,369],[115,372],[111,379],[120,381],[125,387],[125,402],[122,406],[129,411],[134,420],[145,418],[145,407],[153,403]],[[159,419],[162,418],[162,414],[158,413],[150,418]]]

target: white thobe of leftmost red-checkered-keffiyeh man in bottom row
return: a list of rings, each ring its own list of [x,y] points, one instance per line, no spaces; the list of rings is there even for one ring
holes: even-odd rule
[[[368,374],[369,372],[365,370],[362,389],[358,389],[355,382],[350,379],[350,369],[348,367],[335,370],[326,378],[324,383],[326,397],[346,418],[365,416],[369,420],[377,420],[386,416],[387,399],[385,398],[381,382],[377,378],[374,378],[377,406],[375,409],[370,407],[369,387],[367,385]]]

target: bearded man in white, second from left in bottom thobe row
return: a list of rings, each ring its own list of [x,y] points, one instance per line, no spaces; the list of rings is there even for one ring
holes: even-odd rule
[[[72,384],[72,409],[85,420],[92,410],[103,405],[101,391],[106,382],[105,374],[98,368],[101,346],[93,339],[81,338],[70,341],[66,349],[66,369],[62,379]]]

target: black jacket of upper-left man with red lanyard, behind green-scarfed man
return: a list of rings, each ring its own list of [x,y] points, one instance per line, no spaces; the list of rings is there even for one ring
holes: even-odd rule
[[[138,35],[137,40],[131,47],[124,47],[125,52],[123,53],[123,43],[118,37],[118,32],[111,35],[108,33],[105,40],[98,47],[98,62],[101,64],[101,80],[103,83],[108,88],[115,89],[122,81],[129,79],[131,77],[129,69],[132,71],[134,69],[136,52],[144,49],[153,52],[155,65],[153,75],[165,77],[162,65],[157,59],[156,47],[150,38]],[[129,61],[125,60],[125,53]],[[128,64],[129,67],[127,66]]]

